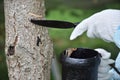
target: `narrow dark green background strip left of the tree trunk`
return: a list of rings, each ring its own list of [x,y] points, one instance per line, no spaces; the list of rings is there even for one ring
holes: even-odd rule
[[[6,58],[4,54],[5,47],[5,27],[3,0],[0,0],[0,80],[8,80]]]

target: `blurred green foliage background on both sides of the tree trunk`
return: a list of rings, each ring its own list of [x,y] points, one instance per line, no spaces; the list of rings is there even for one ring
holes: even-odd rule
[[[62,4],[62,2],[59,1],[60,0],[56,0],[56,1],[51,0],[50,2],[49,0],[49,2],[47,2],[46,0],[47,19],[80,22],[83,19],[103,9],[107,9],[107,8],[120,9],[120,3],[118,2],[106,3],[99,7],[76,8],[74,6],[70,7],[68,3],[67,5],[61,6],[59,4]],[[69,2],[69,0],[66,1]],[[49,8],[50,5],[54,5],[57,7],[53,6]],[[51,40],[53,41],[54,44],[54,53],[57,55],[58,58],[63,50],[70,47],[85,47],[91,49],[104,48],[112,53],[112,58],[116,58],[117,56],[116,53],[119,52],[119,49],[115,46],[114,43],[107,43],[101,39],[90,39],[86,36],[85,33],[81,37],[78,37],[77,39],[70,41],[69,37],[71,32],[73,31],[73,28],[71,29],[49,28],[48,30]],[[5,44],[4,11],[3,11],[3,0],[0,0],[0,80],[8,80],[7,67],[6,67],[6,61],[4,55],[4,46],[5,46],[4,44]]]

